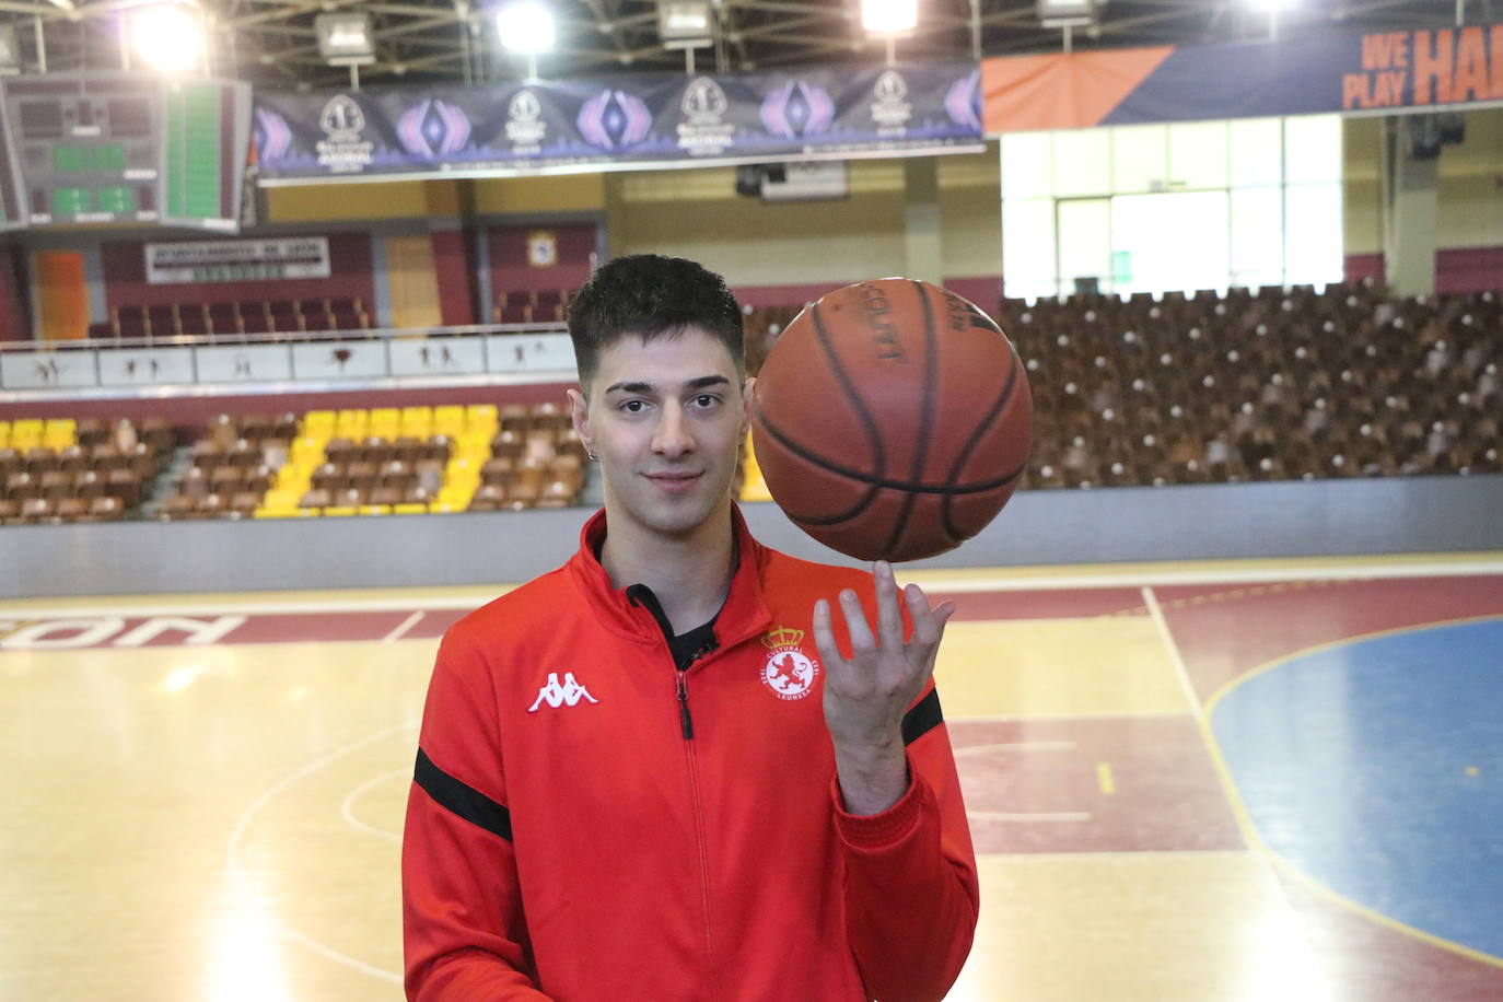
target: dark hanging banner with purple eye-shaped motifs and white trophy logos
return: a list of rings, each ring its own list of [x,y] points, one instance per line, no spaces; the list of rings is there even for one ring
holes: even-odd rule
[[[975,63],[256,95],[262,185],[971,152]]]

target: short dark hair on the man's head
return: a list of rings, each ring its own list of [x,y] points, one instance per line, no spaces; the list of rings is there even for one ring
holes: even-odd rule
[[[700,327],[730,352],[745,373],[741,306],[726,279],[682,257],[631,254],[589,276],[568,305],[568,337],[585,388],[595,379],[600,353],[625,335],[651,341]]]

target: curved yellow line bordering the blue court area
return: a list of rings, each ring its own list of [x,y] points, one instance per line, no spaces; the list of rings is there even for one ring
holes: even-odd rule
[[[1483,952],[1483,951],[1480,951],[1480,949],[1477,949],[1474,946],[1467,946],[1465,943],[1458,943],[1458,942],[1446,939],[1443,936],[1437,936],[1435,933],[1426,933],[1425,930],[1417,928],[1414,925],[1410,925],[1408,922],[1402,922],[1402,921],[1399,921],[1399,919],[1396,919],[1396,918],[1393,918],[1390,915],[1383,915],[1381,912],[1375,912],[1371,907],[1368,907],[1366,904],[1362,904],[1360,901],[1354,901],[1353,898],[1348,898],[1341,891],[1336,891],[1335,888],[1332,888],[1330,885],[1324,883],[1323,880],[1318,880],[1317,877],[1311,876],[1309,873],[1305,873],[1305,870],[1302,870],[1300,867],[1294,865],[1294,862],[1291,859],[1288,859],[1284,853],[1281,853],[1279,850],[1276,850],[1272,846],[1269,846],[1267,843],[1264,843],[1263,837],[1258,835],[1257,826],[1252,823],[1252,816],[1247,813],[1247,808],[1246,808],[1246,805],[1241,801],[1241,790],[1237,787],[1235,781],[1232,780],[1231,769],[1226,766],[1225,759],[1222,757],[1220,742],[1216,741],[1216,732],[1211,730],[1211,727],[1210,727],[1210,715],[1211,715],[1211,712],[1214,712],[1214,708],[1220,703],[1220,700],[1228,693],[1231,693],[1232,690],[1238,688],[1244,682],[1247,682],[1247,681],[1250,681],[1250,679],[1254,679],[1254,678],[1257,678],[1260,675],[1266,675],[1267,672],[1272,672],[1272,670],[1275,670],[1275,669],[1278,669],[1278,667],[1281,667],[1284,664],[1288,664],[1290,661],[1294,661],[1296,658],[1303,658],[1303,656],[1309,656],[1309,655],[1314,655],[1314,653],[1323,653],[1326,650],[1333,650],[1336,647],[1344,647],[1344,646],[1348,646],[1348,644],[1353,644],[1353,643],[1362,643],[1362,641],[1366,641],[1366,640],[1380,640],[1383,637],[1393,637],[1393,635],[1399,635],[1399,634],[1423,632],[1426,629],[1440,629],[1440,628],[1444,628],[1444,626],[1456,626],[1456,625],[1476,623],[1476,622],[1491,622],[1491,620],[1503,620],[1503,613],[1486,613],[1486,614],[1482,614],[1482,616],[1462,616],[1459,619],[1444,619],[1444,620],[1432,622],[1432,623],[1414,623],[1414,625],[1410,625],[1410,626],[1389,626],[1389,628],[1384,628],[1384,629],[1375,629],[1375,631],[1365,632],[1365,634],[1354,634],[1351,637],[1344,637],[1341,640],[1326,640],[1326,641],[1321,641],[1318,644],[1311,644],[1309,647],[1302,647],[1299,650],[1294,650],[1294,652],[1290,652],[1290,653],[1285,653],[1285,655],[1279,655],[1278,658],[1273,658],[1272,661],[1264,661],[1263,664],[1258,664],[1258,665],[1249,669],[1247,672],[1243,672],[1241,675],[1237,675],[1235,678],[1226,679],[1225,682],[1222,682],[1220,687],[1216,688],[1214,693],[1211,693],[1210,699],[1205,700],[1205,732],[1208,735],[1208,739],[1211,742],[1211,748],[1213,748],[1213,753],[1214,753],[1214,766],[1216,766],[1216,771],[1220,775],[1223,786],[1226,786],[1228,799],[1231,799],[1232,813],[1237,817],[1238,826],[1241,826],[1244,829],[1244,837],[1247,837],[1249,840],[1255,840],[1257,841],[1257,846],[1260,847],[1260,850],[1264,852],[1264,853],[1267,853],[1267,856],[1275,862],[1275,865],[1278,865],[1281,870],[1284,870],[1285,873],[1288,873],[1291,877],[1296,877],[1300,883],[1303,883],[1308,889],[1311,889],[1317,897],[1323,897],[1329,903],[1336,904],[1338,907],[1344,907],[1344,909],[1347,909],[1350,912],[1354,912],[1354,913],[1360,915],[1362,918],[1368,919],[1369,922],[1374,922],[1375,925],[1381,925],[1383,928],[1387,928],[1389,931],[1398,933],[1401,936],[1408,936],[1410,939],[1417,939],[1417,940],[1420,940],[1422,943],[1425,943],[1428,946],[1434,946],[1435,949],[1441,949],[1441,951],[1446,951],[1446,952],[1450,952],[1450,954],[1456,954],[1459,957],[1465,957],[1467,960],[1480,963],[1480,964],[1488,966],[1488,967],[1503,967],[1503,957],[1498,957],[1498,955],[1489,954],[1489,952]]]

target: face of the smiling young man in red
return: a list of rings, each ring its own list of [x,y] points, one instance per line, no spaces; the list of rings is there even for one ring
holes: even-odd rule
[[[726,346],[699,327],[606,347],[589,400],[570,397],[612,518],[679,536],[720,511],[748,424],[748,388]]]

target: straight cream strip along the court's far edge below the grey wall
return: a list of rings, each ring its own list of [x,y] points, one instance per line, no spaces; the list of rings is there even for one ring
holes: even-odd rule
[[[1341,563],[1341,557],[1324,556],[1308,557],[1312,562],[1299,565],[1302,557],[1276,557],[1290,560],[1293,566],[1260,566],[1260,568],[1219,568],[1219,569],[1189,569],[1189,571],[1135,571],[1138,565],[1123,563],[1121,571],[1093,571],[1084,574],[1051,574],[1033,575],[1030,569],[995,566],[995,568],[912,568],[903,572],[899,568],[902,583],[917,581],[926,590],[935,592],[1055,592],[1055,590],[1088,590],[1088,589],[1123,589],[1141,590],[1142,587],[1163,587],[1183,584],[1261,584],[1275,581],[1348,581],[1348,580],[1390,580],[1390,578],[1425,578],[1425,577],[1491,577],[1503,575],[1503,556],[1486,551],[1485,556],[1471,554],[1429,554],[1428,560],[1411,560],[1408,554],[1368,556],[1360,562],[1356,556],[1351,562]],[[1446,557],[1446,559],[1435,559]],[[1390,559],[1390,563],[1383,563]],[[1330,560],[1329,563],[1324,563]],[[1193,562],[1190,562],[1193,563]],[[983,578],[981,574],[992,574]],[[945,577],[956,574],[963,577]],[[1009,577],[1012,575],[1012,577]],[[428,586],[415,584],[413,590]],[[448,587],[448,586],[431,586]],[[165,598],[155,595],[149,601],[140,596],[110,596],[93,595],[77,599],[78,605],[36,605],[26,602],[44,599],[0,599],[0,616],[27,619],[57,619],[90,614],[117,616],[213,616],[237,611],[249,613],[361,613],[361,611],[472,611],[502,595],[520,587],[516,583],[494,584],[491,587],[475,586],[473,596],[449,595],[413,595],[409,598],[362,598],[350,595],[340,599],[310,599],[298,601],[284,596],[274,599],[259,599],[254,593],[234,595],[204,601],[203,592],[185,592],[182,604],[162,604]],[[319,593],[329,589],[308,589]],[[286,595],[286,593],[281,593]],[[66,602],[66,598],[50,601]],[[87,602],[96,602],[89,605]]]

